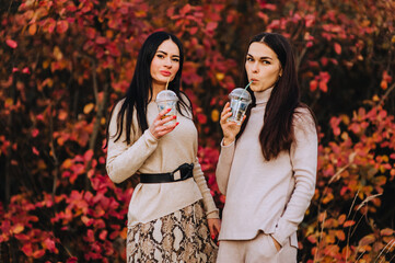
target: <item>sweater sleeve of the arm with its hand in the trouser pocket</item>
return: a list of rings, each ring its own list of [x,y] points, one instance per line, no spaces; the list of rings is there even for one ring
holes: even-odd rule
[[[298,230],[310,206],[315,191],[317,169],[317,133],[310,112],[297,113],[293,121],[295,141],[290,149],[290,158],[295,185],[279,219],[272,237],[284,245],[287,238]]]

